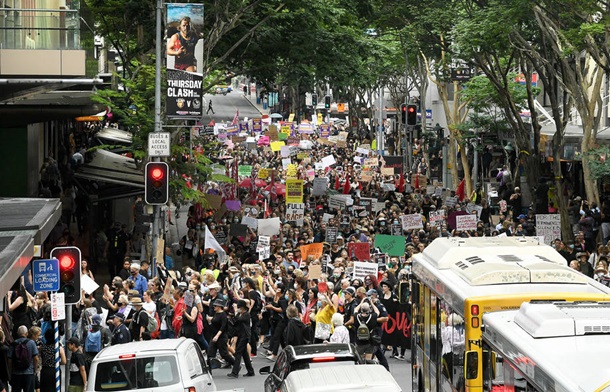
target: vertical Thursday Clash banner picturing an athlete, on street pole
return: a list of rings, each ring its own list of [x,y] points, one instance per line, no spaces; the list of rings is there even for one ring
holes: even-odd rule
[[[201,118],[203,4],[167,4],[166,15],[167,116]]]

